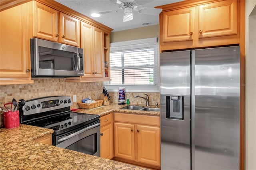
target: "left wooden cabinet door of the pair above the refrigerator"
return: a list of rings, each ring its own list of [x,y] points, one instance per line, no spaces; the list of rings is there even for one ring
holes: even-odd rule
[[[193,40],[195,7],[163,12],[162,42]]]

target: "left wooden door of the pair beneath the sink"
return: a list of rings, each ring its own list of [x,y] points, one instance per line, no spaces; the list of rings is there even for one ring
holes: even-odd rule
[[[114,156],[134,160],[134,125],[114,123]]]

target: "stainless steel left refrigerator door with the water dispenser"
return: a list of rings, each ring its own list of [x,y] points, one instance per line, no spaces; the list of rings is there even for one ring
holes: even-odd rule
[[[190,170],[190,51],[160,55],[161,169]]]

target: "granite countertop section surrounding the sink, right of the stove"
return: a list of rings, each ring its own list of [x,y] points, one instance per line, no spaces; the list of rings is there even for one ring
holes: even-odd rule
[[[88,113],[93,115],[108,115],[112,112],[122,112],[122,113],[129,113],[129,114],[139,114],[139,115],[150,115],[150,116],[160,116],[160,111],[138,111],[138,110],[129,110],[129,109],[120,109],[122,107],[125,107],[127,105],[118,105],[117,103],[110,103],[110,105],[102,105],[100,107],[96,107],[93,109],[82,109],[75,111],[77,113]],[[136,106],[143,106],[146,107],[146,105],[136,105]],[[155,106],[149,106],[149,107],[155,107]]]

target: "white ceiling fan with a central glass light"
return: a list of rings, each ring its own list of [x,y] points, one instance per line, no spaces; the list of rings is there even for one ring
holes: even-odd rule
[[[136,11],[139,14],[158,15],[162,9],[147,8],[143,5],[152,2],[153,0],[110,0],[119,7],[117,10],[108,10],[92,14],[92,17],[100,17],[100,14],[107,14],[110,12],[124,11],[123,22],[133,20],[133,12]]]

